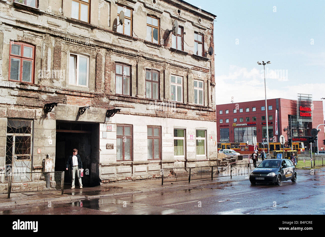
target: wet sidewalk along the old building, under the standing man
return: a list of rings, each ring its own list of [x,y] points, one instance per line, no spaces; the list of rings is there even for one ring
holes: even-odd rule
[[[6,193],[0,194],[0,210],[21,205],[37,206],[45,205],[47,203],[69,203],[80,200],[131,195],[151,191],[173,191],[178,188],[191,188],[197,186],[204,188],[204,186],[207,185],[227,184],[243,179],[245,179],[245,176],[243,175],[232,176],[232,179],[230,176],[226,176],[214,178],[214,180],[191,180],[190,183],[188,183],[188,181],[166,182],[163,185],[161,185],[161,179],[128,180],[108,183],[97,187],[83,187],[82,189],[78,186],[76,186],[75,189],[70,189],[71,186],[64,186],[63,195],[61,195],[61,190],[11,193],[9,199],[7,199]]]

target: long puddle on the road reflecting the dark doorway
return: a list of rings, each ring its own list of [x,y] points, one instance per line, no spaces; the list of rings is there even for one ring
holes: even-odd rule
[[[80,206],[104,212],[114,212],[125,215],[168,215],[183,210],[152,206],[144,203],[123,201],[115,198],[101,198],[72,202],[72,206]]]

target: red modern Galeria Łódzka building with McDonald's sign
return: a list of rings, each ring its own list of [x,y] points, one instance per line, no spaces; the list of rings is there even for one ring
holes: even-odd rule
[[[311,129],[324,121],[323,102],[312,101],[311,95],[298,94],[297,100],[268,99],[267,108],[265,100],[216,105],[218,149],[221,143],[227,143],[233,148],[240,143],[252,145],[254,137],[259,147],[263,147],[261,144],[266,139],[266,109],[269,143],[279,143],[280,135],[284,135],[286,140],[304,142],[305,148],[309,149]],[[318,144],[321,147],[324,146],[324,126],[318,129],[318,143],[315,142],[313,146]],[[273,149],[279,150],[279,144],[270,150]]]

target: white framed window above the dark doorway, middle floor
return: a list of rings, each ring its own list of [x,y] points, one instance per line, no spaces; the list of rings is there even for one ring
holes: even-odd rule
[[[89,57],[80,54],[70,54],[69,84],[88,87]]]

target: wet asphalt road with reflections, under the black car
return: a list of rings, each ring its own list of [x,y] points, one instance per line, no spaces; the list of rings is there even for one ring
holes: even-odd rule
[[[297,182],[280,186],[248,179],[223,185],[157,191],[68,204],[1,211],[0,214],[325,214],[325,169],[298,170]]]

